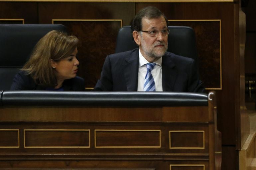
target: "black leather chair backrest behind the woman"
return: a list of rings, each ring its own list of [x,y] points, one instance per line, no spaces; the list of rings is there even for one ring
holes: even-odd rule
[[[0,90],[9,90],[14,76],[28,61],[36,43],[59,24],[0,24]]]

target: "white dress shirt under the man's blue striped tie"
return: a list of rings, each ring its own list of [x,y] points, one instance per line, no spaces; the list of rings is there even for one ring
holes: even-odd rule
[[[143,91],[144,79],[147,74],[147,66],[145,64],[149,63],[141,54],[139,50],[139,74],[138,74],[138,91]],[[163,91],[162,85],[162,57],[157,60],[155,67],[151,71],[151,74],[155,81],[156,91]]]

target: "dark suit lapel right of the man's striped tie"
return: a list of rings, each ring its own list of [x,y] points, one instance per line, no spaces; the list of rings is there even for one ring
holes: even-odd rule
[[[162,61],[162,83],[163,91],[173,91],[177,78],[175,63],[171,60],[171,55],[164,55]]]

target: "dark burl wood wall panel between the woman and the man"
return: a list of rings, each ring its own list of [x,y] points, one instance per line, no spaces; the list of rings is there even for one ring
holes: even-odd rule
[[[53,24],[63,24],[80,40],[77,75],[85,79],[86,88],[93,88],[100,78],[106,56],[115,52],[122,20],[53,20]]]

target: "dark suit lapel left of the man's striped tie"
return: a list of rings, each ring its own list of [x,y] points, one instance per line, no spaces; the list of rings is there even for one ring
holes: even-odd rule
[[[139,49],[132,52],[131,56],[128,56],[125,61],[124,78],[126,81],[127,91],[137,91],[139,72]]]

